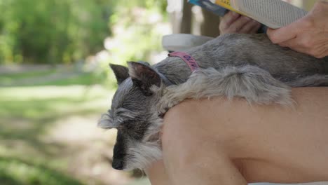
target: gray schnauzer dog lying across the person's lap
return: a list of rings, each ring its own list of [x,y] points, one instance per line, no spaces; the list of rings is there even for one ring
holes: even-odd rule
[[[277,46],[264,34],[225,34],[149,66],[111,64],[118,89],[100,128],[116,128],[112,166],[144,169],[162,157],[160,129],[168,109],[187,98],[244,97],[258,104],[292,102],[291,87],[328,85],[328,57],[317,59]]]

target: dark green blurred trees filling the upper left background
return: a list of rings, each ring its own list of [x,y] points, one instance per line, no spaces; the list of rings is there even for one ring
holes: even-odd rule
[[[109,34],[110,1],[0,1],[0,64],[83,60]]]

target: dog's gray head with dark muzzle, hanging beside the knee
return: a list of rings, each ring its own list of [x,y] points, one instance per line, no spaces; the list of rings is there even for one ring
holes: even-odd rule
[[[117,129],[112,166],[117,170],[144,169],[161,158],[157,102],[163,82],[156,70],[140,62],[128,67],[110,64],[118,82],[111,109],[100,128]]]

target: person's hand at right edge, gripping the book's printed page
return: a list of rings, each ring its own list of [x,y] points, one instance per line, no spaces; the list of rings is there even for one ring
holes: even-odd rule
[[[319,1],[305,17],[279,29],[268,29],[273,43],[317,58],[328,55],[328,2]]]

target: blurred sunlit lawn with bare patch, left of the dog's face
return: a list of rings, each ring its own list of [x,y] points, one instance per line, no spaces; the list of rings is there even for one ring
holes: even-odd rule
[[[0,75],[0,80],[45,78],[54,73],[7,74]],[[92,75],[0,86],[1,185],[132,183],[129,174],[110,167],[116,134],[97,129],[96,124],[109,108],[113,90],[95,84]]]

